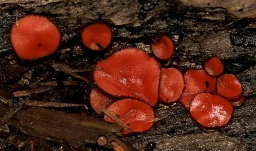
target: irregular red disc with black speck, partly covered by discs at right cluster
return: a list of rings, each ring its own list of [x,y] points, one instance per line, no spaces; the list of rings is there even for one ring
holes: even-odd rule
[[[184,75],[185,89],[181,95],[180,102],[189,109],[193,98],[202,92],[216,92],[216,78],[209,75],[204,69],[188,70]]]

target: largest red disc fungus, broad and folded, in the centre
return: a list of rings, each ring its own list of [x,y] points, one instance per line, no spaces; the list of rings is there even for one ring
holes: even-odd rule
[[[100,61],[95,83],[116,97],[136,98],[153,106],[158,101],[160,67],[154,58],[137,48],[126,48]]]

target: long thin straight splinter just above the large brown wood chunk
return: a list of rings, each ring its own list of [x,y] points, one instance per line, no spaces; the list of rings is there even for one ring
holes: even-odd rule
[[[26,101],[27,106],[39,106],[39,107],[87,107],[84,104],[71,104],[62,102],[46,102],[46,101]]]

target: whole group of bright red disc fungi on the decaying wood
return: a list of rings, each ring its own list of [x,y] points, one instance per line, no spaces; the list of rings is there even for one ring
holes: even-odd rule
[[[10,33],[12,46],[22,59],[37,59],[53,54],[61,41],[58,28],[46,17],[28,15],[18,20]],[[81,41],[88,49],[104,50],[110,46],[112,32],[103,23],[84,28]],[[168,36],[152,41],[151,50],[158,60],[168,60],[174,53],[174,42]],[[217,57],[204,69],[182,73],[175,68],[161,68],[145,51],[128,47],[96,64],[90,104],[97,114],[102,109],[125,123],[130,131],[141,133],[154,123],[152,109],[158,100],[164,104],[179,101],[191,117],[206,128],[222,127],[231,119],[233,106],[244,101],[242,85],[233,74],[223,74],[224,65]],[[104,119],[116,122],[108,115]]]

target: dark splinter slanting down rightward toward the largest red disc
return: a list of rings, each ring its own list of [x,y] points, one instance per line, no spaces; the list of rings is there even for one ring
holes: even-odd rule
[[[64,72],[68,75],[71,75],[74,78],[77,78],[79,80],[82,80],[82,81],[86,82],[87,84],[89,84],[91,86],[91,84],[90,84],[91,81],[89,81],[87,78],[82,77],[81,75],[78,75],[78,74],[74,73],[72,71],[72,69],[66,64],[57,63],[57,62],[52,61],[52,60],[44,61],[44,63],[51,66],[56,71]]]

